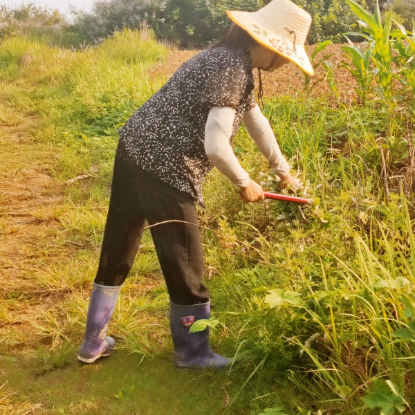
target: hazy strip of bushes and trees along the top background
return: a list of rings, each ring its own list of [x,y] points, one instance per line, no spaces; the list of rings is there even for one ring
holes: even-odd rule
[[[295,2],[313,17],[310,44],[325,40],[343,43],[344,33],[358,27],[347,0]],[[202,48],[225,35],[226,10],[255,11],[266,3],[268,0],[97,0],[89,12],[73,8],[71,23],[57,10],[34,4],[17,9],[0,6],[0,37],[24,33],[50,44],[80,48],[99,44],[124,28],[140,30],[149,26],[163,42],[182,48]],[[377,4],[375,0],[358,3],[371,12]],[[383,15],[393,10],[394,19],[412,30],[415,0],[380,1],[380,10]]]

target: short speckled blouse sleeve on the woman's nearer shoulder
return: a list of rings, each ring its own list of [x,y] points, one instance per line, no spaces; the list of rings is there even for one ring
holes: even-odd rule
[[[221,68],[208,80],[205,101],[208,107],[228,107],[237,111],[246,90],[247,76],[243,68]]]

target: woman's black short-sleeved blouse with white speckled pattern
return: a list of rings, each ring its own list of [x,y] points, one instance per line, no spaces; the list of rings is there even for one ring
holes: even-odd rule
[[[203,205],[201,185],[213,165],[205,153],[212,107],[235,110],[232,142],[243,113],[255,107],[249,50],[219,46],[185,62],[122,127],[118,154]]]

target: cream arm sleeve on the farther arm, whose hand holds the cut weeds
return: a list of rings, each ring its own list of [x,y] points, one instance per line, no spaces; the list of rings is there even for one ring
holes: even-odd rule
[[[252,108],[243,115],[242,120],[250,137],[257,144],[259,151],[268,160],[273,172],[279,177],[288,174],[290,166],[279,149],[274,131],[264,114],[261,113],[261,109],[258,106]]]

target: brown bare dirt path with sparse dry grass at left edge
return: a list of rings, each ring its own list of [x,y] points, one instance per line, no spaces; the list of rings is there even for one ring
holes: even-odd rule
[[[36,122],[28,117],[0,124],[0,336],[16,349],[30,342],[35,316],[50,306],[28,276],[50,261],[39,243],[57,223],[45,221],[45,208],[63,197],[62,185],[50,176],[53,147],[30,136]]]

